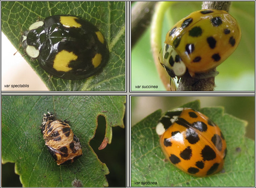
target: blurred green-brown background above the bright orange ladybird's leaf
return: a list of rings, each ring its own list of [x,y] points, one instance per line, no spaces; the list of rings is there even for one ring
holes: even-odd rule
[[[202,107],[223,106],[224,113],[246,120],[246,136],[255,138],[255,97],[254,96],[141,96],[131,97],[131,125],[146,118],[157,109],[162,113],[182,104],[200,100]]]

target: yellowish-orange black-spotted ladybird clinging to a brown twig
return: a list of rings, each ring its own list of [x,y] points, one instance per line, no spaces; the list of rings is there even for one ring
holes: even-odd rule
[[[191,77],[208,73],[235,51],[240,38],[240,27],[228,12],[198,10],[168,31],[161,64],[171,77],[182,76],[186,69]]]

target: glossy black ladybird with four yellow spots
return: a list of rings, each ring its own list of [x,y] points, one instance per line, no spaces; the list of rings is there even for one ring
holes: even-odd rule
[[[106,40],[97,27],[73,15],[54,15],[33,23],[21,45],[48,73],[62,79],[83,79],[108,61]]]

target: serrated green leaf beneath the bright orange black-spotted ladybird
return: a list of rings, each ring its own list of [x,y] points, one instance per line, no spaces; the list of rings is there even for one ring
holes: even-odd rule
[[[181,107],[191,107],[202,112],[220,127],[228,150],[223,170],[225,172],[209,177],[194,177],[169,161],[165,162],[155,132],[157,121],[162,115],[161,110],[158,110],[131,128],[131,185],[148,186],[141,183],[135,185],[135,182],[157,182],[150,186],[255,186],[255,143],[244,136],[247,122],[224,114],[222,107],[200,108],[198,100]]]

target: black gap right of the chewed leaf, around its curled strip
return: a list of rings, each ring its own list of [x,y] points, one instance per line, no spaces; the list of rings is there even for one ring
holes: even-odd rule
[[[107,144],[103,150],[98,150],[105,137],[106,121],[104,116],[98,117],[98,127],[90,146],[97,154],[101,162],[109,169],[106,175],[109,187],[126,186],[126,117],[123,119],[125,128],[112,127],[111,144]]]

